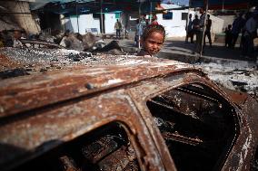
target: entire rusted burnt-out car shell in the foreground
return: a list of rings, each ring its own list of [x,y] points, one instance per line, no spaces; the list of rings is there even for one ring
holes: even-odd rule
[[[2,80],[1,170],[255,169],[257,100],[186,63],[122,58]]]

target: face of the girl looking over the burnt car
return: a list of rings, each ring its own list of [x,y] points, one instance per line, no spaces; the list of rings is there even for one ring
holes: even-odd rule
[[[144,50],[150,55],[154,55],[159,52],[164,43],[163,33],[153,32],[150,33],[146,40],[141,41],[144,47]]]

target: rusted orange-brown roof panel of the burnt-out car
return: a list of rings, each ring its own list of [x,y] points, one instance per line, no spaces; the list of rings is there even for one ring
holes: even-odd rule
[[[79,66],[68,64],[57,71],[1,81],[0,117],[174,71],[189,70],[188,64],[153,58],[100,56],[96,59],[88,59],[89,62]]]

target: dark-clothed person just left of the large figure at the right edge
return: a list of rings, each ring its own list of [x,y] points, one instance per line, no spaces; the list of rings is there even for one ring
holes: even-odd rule
[[[233,21],[232,24],[232,43],[231,47],[234,47],[239,33],[241,33],[245,24],[245,20],[243,19],[243,13],[239,14],[239,16]]]

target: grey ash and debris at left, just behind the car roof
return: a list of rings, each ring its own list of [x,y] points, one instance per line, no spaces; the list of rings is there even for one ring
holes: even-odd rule
[[[47,48],[0,48],[0,80],[75,66],[124,65],[145,62],[134,55],[112,55]],[[149,59],[150,62],[159,59]]]

